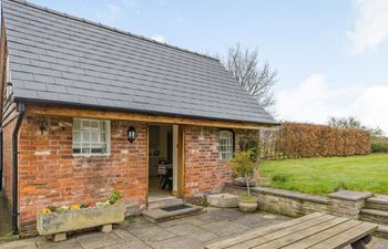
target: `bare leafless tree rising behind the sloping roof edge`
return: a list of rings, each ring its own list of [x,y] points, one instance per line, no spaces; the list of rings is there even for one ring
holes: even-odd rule
[[[257,49],[249,50],[237,43],[228,49],[223,64],[263,107],[275,105],[273,86],[277,71],[267,62],[259,64]]]

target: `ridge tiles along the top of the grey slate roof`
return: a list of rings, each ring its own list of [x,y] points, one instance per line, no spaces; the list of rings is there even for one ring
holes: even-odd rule
[[[94,22],[94,21],[91,21],[91,20],[88,20],[88,19],[84,19],[84,18],[79,18],[79,17],[75,17],[75,15],[72,15],[72,14],[68,14],[65,12],[57,11],[57,10],[53,10],[53,9],[50,9],[50,8],[47,8],[47,7],[42,7],[42,6],[39,6],[39,4],[35,4],[35,3],[29,2],[27,0],[1,0],[1,1],[10,1],[10,2],[16,2],[16,3],[20,3],[20,4],[25,4],[28,7],[32,7],[32,8],[35,8],[38,10],[43,10],[45,12],[53,13],[53,14],[57,14],[57,15],[60,15],[60,17],[63,17],[63,18],[69,18],[69,19],[75,20],[75,21],[80,21],[80,22],[84,22],[84,23],[88,23],[88,24],[91,24],[91,25],[100,27],[100,28],[105,29],[105,30],[110,30],[110,31],[113,31],[113,32],[122,33],[122,34],[125,34],[125,35],[129,35],[129,37],[132,37],[132,38],[135,38],[135,39],[140,39],[140,40],[143,40],[143,41],[146,41],[146,42],[151,42],[151,43],[157,44],[157,45],[167,46],[167,48],[175,49],[175,50],[178,50],[178,51],[182,51],[182,52],[191,53],[191,54],[194,54],[194,55],[197,55],[197,56],[202,56],[202,58],[205,58],[205,59],[210,59],[210,60],[214,60],[214,61],[219,62],[219,59],[213,58],[213,56],[204,54],[204,53],[198,53],[198,52],[194,52],[194,51],[191,51],[191,50],[178,48],[176,45],[171,45],[171,44],[167,44],[167,43],[159,42],[159,41],[152,40],[152,39],[143,37],[143,35],[134,34],[134,33],[131,33],[129,31],[124,31],[124,30],[121,30],[121,29],[116,29],[114,27],[105,25],[105,24],[102,24],[101,22]]]

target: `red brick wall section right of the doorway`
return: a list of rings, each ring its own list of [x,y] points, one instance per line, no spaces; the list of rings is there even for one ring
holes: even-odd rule
[[[232,179],[229,162],[218,155],[219,128],[186,126],[185,144],[185,196],[219,191]],[[238,151],[238,132],[235,132],[235,149]]]

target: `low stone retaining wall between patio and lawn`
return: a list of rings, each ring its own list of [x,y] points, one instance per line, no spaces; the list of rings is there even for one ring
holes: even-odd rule
[[[245,187],[227,184],[224,189],[234,195],[246,194]],[[251,188],[252,195],[258,197],[259,209],[299,217],[312,212],[325,212],[349,218],[359,218],[365,201],[371,196],[370,193],[338,191],[328,196],[313,196],[303,193],[273,189],[264,187]]]

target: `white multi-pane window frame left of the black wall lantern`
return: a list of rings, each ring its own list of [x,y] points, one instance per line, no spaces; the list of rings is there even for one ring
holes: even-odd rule
[[[75,128],[75,122],[80,122],[80,127]],[[89,127],[84,127],[84,122],[90,123]],[[96,127],[92,127],[92,123],[98,124]],[[104,124],[104,131],[101,131],[101,124]],[[75,138],[75,133],[80,133],[80,141],[74,141]],[[92,133],[93,135],[98,134],[98,142],[92,141]],[[89,134],[89,142],[83,141],[83,136],[85,134]],[[105,136],[105,142],[101,142],[101,135],[104,134]],[[74,145],[79,144],[80,147],[75,147]],[[88,153],[83,152],[82,147],[84,144],[89,144],[86,148],[89,148]],[[93,153],[93,145],[92,144],[105,144],[106,146],[106,152],[104,153]],[[80,148],[80,152],[74,152],[74,148]],[[98,147],[94,147],[98,148]],[[111,153],[111,122],[105,121],[105,120],[92,120],[92,118],[73,118],[73,127],[72,127],[72,154],[73,156],[98,156],[98,155],[110,155]]]

